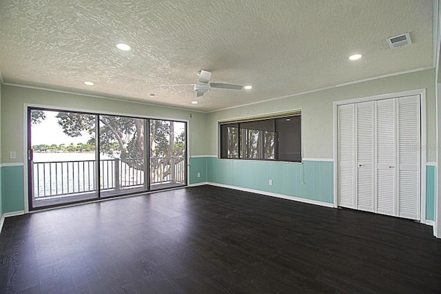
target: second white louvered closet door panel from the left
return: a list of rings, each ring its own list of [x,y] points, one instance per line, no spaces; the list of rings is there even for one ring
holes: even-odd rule
[[[356,104],[356,208],[364,211],[373,211],[374,104]]]

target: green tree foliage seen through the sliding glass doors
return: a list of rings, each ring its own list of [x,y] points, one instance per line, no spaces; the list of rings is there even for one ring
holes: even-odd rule
[[[35,112],[35,114],[34,114]],[[45,119],[44,112],[33,111],[35,120],[32,123],[41,123]],[[71,137],[84,136],[84,132],[89,134],[87,144],[69,145],[59,147],[54,145],[50,149],[57,148],[63,151],[94,151],[95,144],[95,118],[90,114],[59,112],[57,114],[57,123],[63,129],[63,132]],[[165,169],[161,172],[163,177],[170,174],[172,163],[184,160],[185,154],[185,132],[178,136],[174,135],[174,122],[170,120],[150,120],[150,157],[152,160],[151,169]],[[117,156],[121,160],[134,167],[135,169],[144,169],[144,142],[145,129],[144,120],[141,118],[130,118],[125,116],[104,116],[99,115],[99,148],[101,154],[107,154],[110,157]],[[93,147],[93,149],[92,149]],[[58,149],[58,150],[59,150]],[[45,146],[39,146],[34,150],[48,150]],[[174,162],[172,162],[172,157]],[[127,159],[131,160],[127,160]],[[133,160],[135,159],[135,160]],[[177,162],[176,162],[177,160]]]

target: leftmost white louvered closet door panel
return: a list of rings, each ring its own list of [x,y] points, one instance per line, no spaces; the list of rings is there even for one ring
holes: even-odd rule
[[[354,143],[355,108],[338,106],[338,206],[355,208]]]

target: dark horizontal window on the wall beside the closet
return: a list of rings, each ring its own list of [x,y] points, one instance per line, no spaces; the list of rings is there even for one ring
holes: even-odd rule
[[[301,115],[220,123],[220,158],[302,161]]]

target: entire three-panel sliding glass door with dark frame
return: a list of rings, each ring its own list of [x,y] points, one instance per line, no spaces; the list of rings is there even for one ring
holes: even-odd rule
[[[28,109],[30,209],[187,185],[187,124]]]

